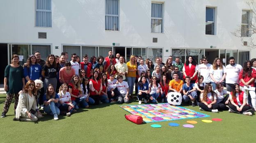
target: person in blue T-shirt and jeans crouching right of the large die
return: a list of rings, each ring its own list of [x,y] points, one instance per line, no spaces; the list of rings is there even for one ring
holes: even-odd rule
[[[196,87],[194,86],[194,83],[190,83],[190,76],[185,77],[186,83],[182,86],[183,90],[183,101],[185,104],[190,104],[190,101],[192,101],[192,106],[196,106],[196,98],[197,98],[197,92]]]

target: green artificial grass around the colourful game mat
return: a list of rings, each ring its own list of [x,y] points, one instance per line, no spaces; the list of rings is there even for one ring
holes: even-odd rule
[[[0,94],[2,112],[5,94]],[[123,105],[137,105],[137,101]],[[106,143],[252,143],[256,139],[256,115],[245,116],[227,111],[211,113],[199,111],[199,107],[185,106],[197,112],[210,115],[207,118],[190,119],[197,121],[194,128],[184,128],[188,120],[176,120],[136,125],[127,121],[124,114],[130,114],[119,104],[100,104],[89,109],[79,109],[71,117],[59,116],[54,121],[52,116],[43,114],[37,123],[12,121],[14,103],[11,104],[7,117],[0,118],[0,143],[5,142],[106,142]],[[223,121],[203,123],[203,119],[222,118]],[[168,123],[179,123],[179,127],[170,127]],[[160,124],[161,128],[150,125]]]

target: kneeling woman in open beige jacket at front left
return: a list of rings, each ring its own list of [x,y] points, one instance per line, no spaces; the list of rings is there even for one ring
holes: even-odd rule
[[[34,81],[29,80],[25,85],[24,91],[19,96],[14,121],[36,122],[38,118],[42,117],[37,108],[35,90]]]

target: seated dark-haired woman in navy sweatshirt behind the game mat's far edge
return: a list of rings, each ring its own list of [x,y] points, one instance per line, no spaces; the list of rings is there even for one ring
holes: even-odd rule
[[[144,98],[144,101],[148,100],[150,97],[149,94],[149,83],[146,80],[146,76],[142,76],[138,82],[138,99],[139,104],[142,103],[142,98]]]

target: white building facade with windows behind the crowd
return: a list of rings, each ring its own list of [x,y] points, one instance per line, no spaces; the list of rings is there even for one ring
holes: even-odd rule
[[[34,51],[42,58],[107,56],[112,49],[129,60],[189,55],[207,56],[224,65],[254,58],[255,49],[242,45],[231,34],[246,27],[252,12],[249,0],[2,0],[0,4],[0,53],[3,67],[12,54],[24,63]],[[243,29],[245,37],[249,33]],[[21,56],[21,57],[22,57]]]

